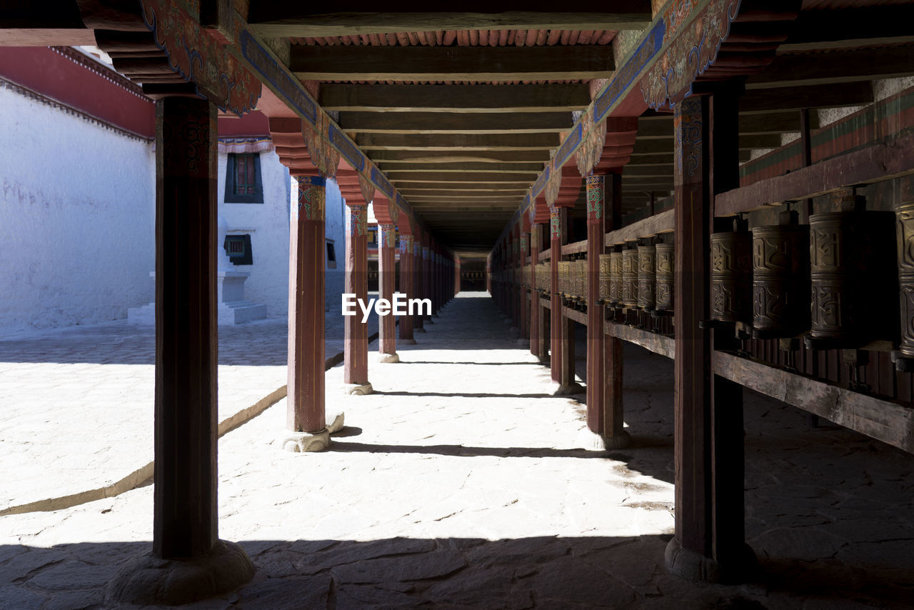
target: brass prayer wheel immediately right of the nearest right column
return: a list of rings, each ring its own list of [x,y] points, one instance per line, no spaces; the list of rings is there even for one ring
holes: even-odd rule
[[[752,319],[752,233],[711,234],[711,318],[721,322]]]

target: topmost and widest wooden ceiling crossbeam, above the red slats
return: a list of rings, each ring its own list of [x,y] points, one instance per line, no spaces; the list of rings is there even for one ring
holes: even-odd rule
[[[431,6],[431,5],[430,5]],[[264,37],[324,37],[439,29],[642,29],[651,23],[650,0],[614,0],[598,11],[498,11],[491,3],[462,3],[458,11],[416,11],[416,5],[347,3],[345,12],[328,5],[258,0],[247,20]],[[572,7],[567,7],[572,8]],[[321,10],[324,9],[324,10]]]

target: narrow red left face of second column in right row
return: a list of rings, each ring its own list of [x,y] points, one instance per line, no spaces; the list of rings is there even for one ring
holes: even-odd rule
[[[605,176],[587,177],[587,427],[603,433],[603,305],[600,305],[600,254],[606,241],[604,229]]]

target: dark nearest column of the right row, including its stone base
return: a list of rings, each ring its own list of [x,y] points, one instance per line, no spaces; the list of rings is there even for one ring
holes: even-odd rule
[[[744,537],[741,389],[712,375],[714,333],[698,326],[709,317],[713,197],[739,185],[738,111],[721,91],[686,98],[674,117],[676,535],[666,565],[692,581],[739,581],[755,559]]]

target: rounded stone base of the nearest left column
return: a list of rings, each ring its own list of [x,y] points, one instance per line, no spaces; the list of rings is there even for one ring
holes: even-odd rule
[[[150,551],[134,557],[112,578],[105,605],[190,604],[237,589],[253,575],[248,553],[227,540],[189,559],[166,560]]]

